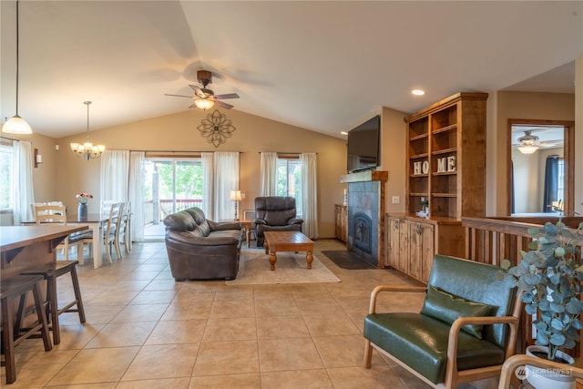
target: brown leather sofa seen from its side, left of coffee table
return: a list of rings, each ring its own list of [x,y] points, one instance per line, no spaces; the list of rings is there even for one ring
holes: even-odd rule
[[[240,223],[207,220],[199,208],[164,219],[170,271],[176,281],[234,280],[243,238]]]

